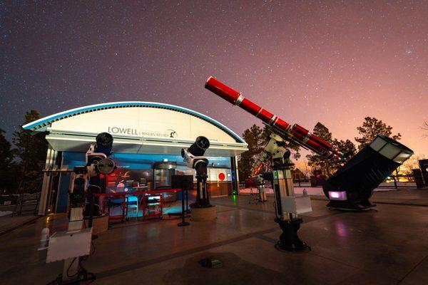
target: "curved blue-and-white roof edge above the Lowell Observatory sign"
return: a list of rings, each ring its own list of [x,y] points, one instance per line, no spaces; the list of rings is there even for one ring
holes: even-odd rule
[[[56,113],[54,115],[49,115],[47,117],[41,118],[39,120],[35,120],[34,122],[23,125],[22,128],[25,130],[33,130],[33,131],[45,131],[51,123],[54,123],[58,120],[63,120],[65,118],[70,118],[75,115],[80,115],[83,113],[91,113],[96,112],[98,110],[106,110],[112,108],[131,108],[131,107],[144,107],[144,108],[158,108],[165,110],[174,110],[176,112],[185,113],[188,115],[193,115],[196,118],[200,118],[201,120],[205,120],[208,123],[215,125],[217,128],[220,128],[225,133],[228,133],[232,138],[236,140],[236,142],[245,141],[240,138],[239,135],[235,134],[233,130],[230,130],[228,127],[219,123],[218,121],[210,118],[201,113],[195,112],[194,110],[190,110],[188,108],[179,107],[176,105],[164,104],[164,103],[155,103],[155,102],[141,102],[141,101],[126,101],[126,102],[111,102],[111,103],[101,103],[96,105],[88,105],[79,108],[74,108],[71,110],[66,110],[60,113]]]

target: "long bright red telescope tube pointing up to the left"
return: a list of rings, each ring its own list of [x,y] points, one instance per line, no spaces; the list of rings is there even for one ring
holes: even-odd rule
[[[320,155],[325,157],[332,157],[336,160],[340,160],[341,154],[333,150],[332,145],[318,138],[316,135],[313,135],[301,127],[300,125],[291,125],[285,120],[273,115],[269,111],[263,109],[259,105],[253,103],[252,101],[245,98],[241,93],[236,90],[233,90],[229,86],[226,86],[224,83],[221,83],[212,76],[208,78],[205,83],[205,88],[212,91],[221,98],[227,100],[233,105],[238,105],[240,108],[243,108],[248,113],[255,115],[255,117],[260,118],[266,125],[270,125],[272,128],[278,130],[282,135],[285,135],[292,142],[302,145],[304,147],[310,148],[314,152],[317,152]]]

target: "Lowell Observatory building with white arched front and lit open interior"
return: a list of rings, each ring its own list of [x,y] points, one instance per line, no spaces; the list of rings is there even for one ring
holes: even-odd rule
[[[118,169],[108,178],[106,191],[129,190],[136,185],[151,189],[165,187],[163,180],[168,177],[165,178],[162,170],[156,170],[156,165],[162,165],[156,162],[176,162],[176,173],[193,174],[194,170],[183,163],[180,152],[203,135],[210,140],[210,148],[205,154],[210,161],[208,185],[211,196],[236,194],[236,157],[248,150],[242,138],[218,121],[187,108],[163,103],[89,105],[49,115],[23,128],[46,132],[49,142],[47,169],[70,170],[76,165],[84,165],[85,153],[95,142],[96,135],[111,133],[114,138],[111,158]],[[67,173],[45,173],[39,214],[66,212],[69,183]]]

